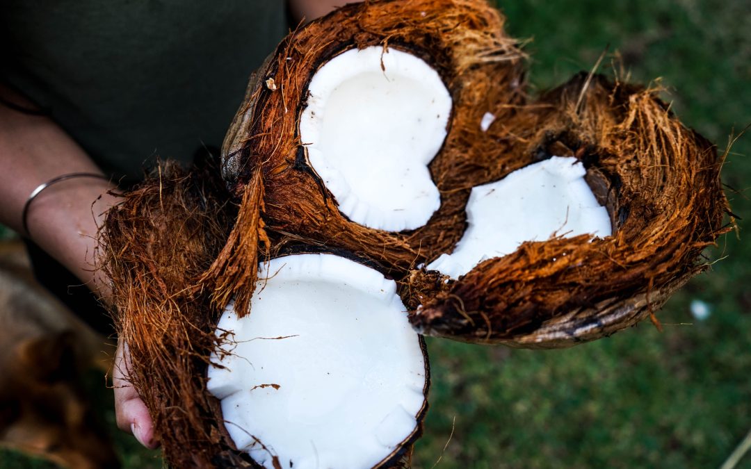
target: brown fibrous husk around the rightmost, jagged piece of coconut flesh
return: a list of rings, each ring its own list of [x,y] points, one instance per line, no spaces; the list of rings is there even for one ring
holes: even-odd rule
[[[728,230],[722,158],[658,91],[580,74],[518,114],[514,134],[527,143],[497,158],[580,159],[613,236],[526,242],[448,283],[412,271],[412,324],[460,341],[566,347],[634,325],[707,269],[701,251]]]

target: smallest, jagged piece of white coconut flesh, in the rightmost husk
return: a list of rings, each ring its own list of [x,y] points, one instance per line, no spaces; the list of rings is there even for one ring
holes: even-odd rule
[[[597,203],[585,174],[578,159],[553,156],[472,188],[466,232],[452,254],[441,254],[427,269],[459,278],[526,241],[585,233],[610,236],[608,210]]]

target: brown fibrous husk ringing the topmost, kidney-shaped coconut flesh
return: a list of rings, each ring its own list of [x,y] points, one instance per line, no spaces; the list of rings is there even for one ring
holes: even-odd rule
[[[523,53],[504,34],[503,21],[495,8],[476,0],[364,2],[294,32],[251,80],[225,139],[223,173],[231,190],[241,197],[253,172],[262,169],[263,218],[277,245],[343,249],[381,263],[396,277],[451,250],[463,233],[472,185],[500,174],[495,162],[479,152],[508,146],[478,135],[478,122],[487,111],[510,119],[523,99]],[[308,164],[298,134],[315,71],[339,53],[369,46],[406,50],[424,59],[439,72],[454,103],[448,136],[430,164],[440,209],[410,232],[373,230],[342,215]]]

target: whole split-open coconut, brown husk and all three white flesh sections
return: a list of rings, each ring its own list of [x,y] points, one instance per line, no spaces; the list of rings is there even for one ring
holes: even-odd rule
[[[342,442],[327,461],[369,467],[391,464],[400,453],[409,459],[424,412],[418,378],[427,383],[427,368],[418,360],[419,339],[404,332],[404,311],[424,334],[565,347],[650,316],[706,268],[698,257],[726,230],[728,209],[716,149],[671,115],[658,90],[617,77],[583,74],[530,98],[523,53],[505,36],[503,21],[481,0],[365,2],[316,20],[288,36],[252,80],[225,140],[221,171],[167,166],[110,211],[104,257],[118,329],[131,352],[131,380],[170,464],[308,464],[311,449],[301,440],[315,431],[304,433],[303,420],[334,420],[312,414],[350,396],[363,398],[345,404],[360,407],[357,418],[371,403],[383,421],[398,418],[388,431],[381,421],[372,424],[378,416],[365,434],[347,422],[336,434],[321,430],[316,448]],[[511,184],[540,167],[566,194],[527,209],[535,224],[544,223],[526,232],[531,223],[502,211],[509,200],[541,195],[524,195],[544,183],[536,176]],[[491,191],[505,195],[493,200]],[[481,215],[486,203],[493,215]],[[514,233],[520,227],[523,233]],[[505,242],[477,236],[493,231],[505,233]],[[305,322],[314,290],[329,291],[321,283],[328,274],[305,286],[284,280],[280,266],[289,254],[312,251],[375,269],[367,274],[372,284],[355,286],[354,274],[339,278],[347,288],[387,282],[400,297],[400,305],[388,300],[400,316],[400,326],[388,326],[395,332],[366,327],[372,348],[388,344],[401,357],[389,363],[405,377],[391,386],[398,395],[379,396],[377,386],[366,386],[336,397],[354,379],[335,383],[332,395],[315,387],[329,379],[328,365],[339,363],[340,377],[367,375],[364,358],[355,364],[324,352],[337,330],[364,314],[353,314],[353,305],[370,300],[325,308],[335,323],[325,331],[315,321],[288,328]],[[277,281],[299,286],[301,306],[272,301],[272,318],[262,311]],[[296,345],[305,334],[312,342]],[[373,358],[372,351],[360,357]],[[373,368],[381,367],[375,359]],[[287,372],[296,360],[315,361],[318,367],[306,372],[319,381],[296,383]],[[264,374],[256,374],[260,366]],[[240,374],[250,380],[228,379]],[[276,401],[287,389],[311,386],[310,398],[323,399],[314,408],[297,401],[305,391]],[[232,414],[227,399],[243,393],[269,401],[239,400],[237,409],[247,412]],[[284,416],[285,406],[297,410]],[[299,437],[290,443],[285,433]],[[367,458],[352,462],[342,440],[348,437],[379,450],[357,451]]]

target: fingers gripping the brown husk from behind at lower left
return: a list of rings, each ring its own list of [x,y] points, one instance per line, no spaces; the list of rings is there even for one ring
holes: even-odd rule
[[[112,373],[117,426],[122,431],[133,434],[146,448],[154,449],[159,446],[159,442],[154,439],[154,422],[149,416],[146,404],[143,404],[138,392],[128,382],[130,369],[131,355],[128,352],[128,344],[120,340],[117,343]]]

